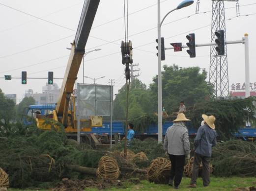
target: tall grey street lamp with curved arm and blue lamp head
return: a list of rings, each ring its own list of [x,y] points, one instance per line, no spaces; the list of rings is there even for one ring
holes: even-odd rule
[[[163,117],[162,117],[162,66],[161,66],[161,26],[165,18],[172,12],[177,9],[184,8],[191,5],[194,0],[183,0],[175,9],[169,11],[161,21],[160,15],[160,0],[157,2],[157,31],[158,31],[158,143],[163,141]]]

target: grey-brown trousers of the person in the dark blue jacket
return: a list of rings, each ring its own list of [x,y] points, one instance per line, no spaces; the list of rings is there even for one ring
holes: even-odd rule
[[[211,157],[202,156],[198,153],[194,153],[194,162],[191,176],[191,184],[197,184],[199,166],[202,162],[202,182],[203,186],[210,184],[210,161]]]

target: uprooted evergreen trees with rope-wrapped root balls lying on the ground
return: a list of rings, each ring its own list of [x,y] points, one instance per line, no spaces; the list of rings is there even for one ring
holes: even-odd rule
[[[167,183],[171,168],[170,160],[162,157],[162,145],[152,141],[134,140],[125,154],[122,144],[112,151],[93,150],[68,141],[64,133],[23,127],[0,139],[0,148],[0,187],[37,187],[62,178],[88,176],[116,180],[139,174],[151,182]],[[192,163],[191,159],[185,167],[188,176]],[[256,176],[256,144],[218,143],[213,148],[212,165],[217,176]]]

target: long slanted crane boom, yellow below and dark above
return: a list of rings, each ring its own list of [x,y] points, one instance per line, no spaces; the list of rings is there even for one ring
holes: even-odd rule
[[[62,124],[64,126],[66,126],[67,123],[67,112],[70,96],[73,92],[80,64],[85,54],[85,45],[88,40],[99,2],[100,0],[85,0],[75,36],[75,41],[72,44],[56,105],[57,116],[62,116]]]

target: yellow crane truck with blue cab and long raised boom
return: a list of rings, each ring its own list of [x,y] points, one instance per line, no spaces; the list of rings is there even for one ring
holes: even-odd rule
[[[71,44],[72,48],[57,103],[55,105],[32,105],[27,109],[28,115],[36,117],[39,129],[51,129],[52,125],[45,121],[52,118],[65,127],[66,133],[77,133],[76,101],[72,93],[99,2],[100,0],[85,0],[75,40]],[[51,111],[51,114],[48,111]],[[80,131],[88,132],[91,131],[91,127],[102,126],[102,117],[90,116],[89,119],[81,119],[80,122],[82,124]],[[29,124],[29,121],[25,119],[24,123]]]

